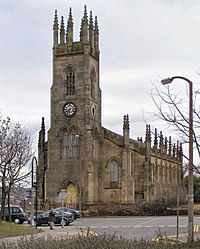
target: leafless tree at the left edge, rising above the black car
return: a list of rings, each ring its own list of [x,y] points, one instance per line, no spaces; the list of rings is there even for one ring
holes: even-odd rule
[[[0,179],[1,179],[1,216],[4,216],[6,199],[10,205],[12,187],[29,177],[27,165],[32,157],[31,137],[20,124],[9,118],[0,118]]]

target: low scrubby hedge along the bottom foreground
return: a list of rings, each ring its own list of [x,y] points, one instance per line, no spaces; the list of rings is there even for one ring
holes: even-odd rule
[[[199,249],[200,240],[193,243],[170,241],[128,240],[115,235],[100,235],[83,237],[80,235],[67,239],[53,239],[48,237],[23,239],[16,243],[0,242],[0,249]]]

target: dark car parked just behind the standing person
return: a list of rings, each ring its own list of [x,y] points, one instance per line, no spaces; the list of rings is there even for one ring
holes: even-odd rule
[[[41,213],[36,217],[34,217],[34,221],[37,222],[37,226],[41,225],[49,225],[49,211]],[[70,218],[64,213],[63,214],[63,223],[62,223],[62,212],[59,210],[55,210],[55,225],[68,226],[72,221]]]

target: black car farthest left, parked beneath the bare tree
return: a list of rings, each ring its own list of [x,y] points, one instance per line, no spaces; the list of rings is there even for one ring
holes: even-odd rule
[[[10,215],[12,222],[15,224],[22,224],[28,220],[28,215],[20,206],[10,206]],[[7,206],[5,207],[5,218],[6,221],[9,221],[9,208]]]

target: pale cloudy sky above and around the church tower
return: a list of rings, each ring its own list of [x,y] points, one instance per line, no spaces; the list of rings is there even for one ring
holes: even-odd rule
[[[49,127],[54,11],[66,23],[72,7],[77,40],[85,4],[99,22],[103,126],[121,133],[129,114],[132,137],[144,136],[152,82],[182,75],[199,83],[200,1],[1,0],[0,110],[35,143],[42,116]]]

